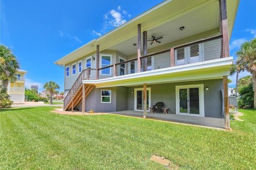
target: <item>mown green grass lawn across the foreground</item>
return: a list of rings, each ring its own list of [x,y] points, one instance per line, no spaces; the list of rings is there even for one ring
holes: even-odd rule
[[[255,169],[256,111],[221,131],[118,115],[71,116],[54,107],[0,111],[0,169]]]

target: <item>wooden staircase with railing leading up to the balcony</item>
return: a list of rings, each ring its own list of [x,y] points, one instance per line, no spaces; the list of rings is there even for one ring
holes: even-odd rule
[[[89,79],[90,74],[87,70],[83,70],[75,83],[69,90],[67,96],[63,100],[63,111],[72,111],[73,109],[82,101],[83,99],[83,90],[84,98],[90,94],[94,85],[93,84],[83,84],[83,80]],[[83,89],[84,86],[84,89]]]

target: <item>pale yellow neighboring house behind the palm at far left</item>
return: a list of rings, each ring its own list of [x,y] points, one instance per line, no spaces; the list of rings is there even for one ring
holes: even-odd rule
[[[7,93],[10,95],[10,100],[14,103],[25,101],[25,75],[27,71],[18,70],[17,80],[15,82],[10,82],[8,86]]]

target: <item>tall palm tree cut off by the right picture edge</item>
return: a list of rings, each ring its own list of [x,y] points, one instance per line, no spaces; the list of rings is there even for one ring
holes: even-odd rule
[[[256,108],[256,38],[243,43],[236,55],[238,56],[237,64],[241,70],[252,73],[252,82],[254,84],[253,107]]]

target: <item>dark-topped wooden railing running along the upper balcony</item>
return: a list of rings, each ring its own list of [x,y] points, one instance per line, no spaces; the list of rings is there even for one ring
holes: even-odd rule
[[[108,77],[117,77],[139,71],[145,72],[214,60],[223,57],[222,49],[222,36],[207,38],[142,56],[140,57],[140,70],[138,70],[137,58],[102,67],[98,69],[99,79],[106,78],[106,75],[101,76],[101,72],[109,73]]]

